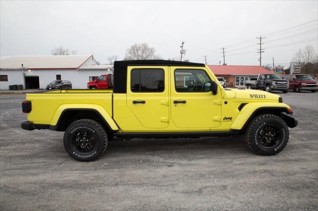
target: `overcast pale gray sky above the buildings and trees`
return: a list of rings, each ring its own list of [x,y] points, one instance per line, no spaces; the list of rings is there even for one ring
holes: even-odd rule
[[[257,65],[256,36],[269,34],[262,64],[272,63],[274,56],[275,63],[289,66],[299,48],[311,44],[317,52],[317,19],[317,0],[1,0],[0,55],[50,55],[62,45],[78,55],[94,53],[96,60],[107,63],[107,56],[123,59],[129,46],[146,42],[167,59],[178,58],[185,41],[190,61],[204,62],[207,55],[208,64],[219,64],[220,48],[226,47],[228,65]]]

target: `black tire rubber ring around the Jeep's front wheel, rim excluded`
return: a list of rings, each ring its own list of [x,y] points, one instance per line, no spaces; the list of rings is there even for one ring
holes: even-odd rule
[[[265,152],[262,152],[256,148],[254,148],[252,145],[251,145],[251,130],[253,129],[253,127],[255,126],[255,124],[264,119],[264,118],[275,118],[276,120],[280,121],[283,125],[285,125],[285,127],[287,128],[286,130],[286,140],[285,140],[285,144],[278,150],[278,151],[275,151],[275,153],[273,154],[267,154]],[[247,144],[247,147],[253,152],[255,153],[256,155],[260,155],[260,156],[272,156],[272,155],[276,155],[278,154],[279,152],[281,152],[287,145],[288,143],[288,140],[289,140],[289,131],[288,131],[288,127],[287,127],[287,124],[286,122],[281,119],[279,116],[276,116],[274,114],[261,114],[261,115],[258,115],[256,117],[254,117],[250,122],[249,124],[247,125],[247,128],[246,128],[246,131],[245,131],[245,141],[246,141],[246,144]]]

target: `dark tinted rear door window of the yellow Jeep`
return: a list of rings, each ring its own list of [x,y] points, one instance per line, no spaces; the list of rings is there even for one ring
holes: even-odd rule
[[[163,69],[133,69],[130,86],[132,92],[163,92]]]

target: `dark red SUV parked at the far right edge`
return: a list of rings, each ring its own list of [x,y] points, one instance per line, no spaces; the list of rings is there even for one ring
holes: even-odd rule
[[[302,90],[316,92],[318,90],[318,83],[314,78],[307,74],[286,74],[281,75],[289,81],[289,89],[294,92],[301,92]]]

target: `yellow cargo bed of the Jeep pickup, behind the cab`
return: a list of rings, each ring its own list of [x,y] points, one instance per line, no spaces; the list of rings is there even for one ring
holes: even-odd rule
[[[28,120],[37,124],[56,125],[64,109],[102,107],[112,116],[112,90],[43,90],[26,94],[32,111]]]

